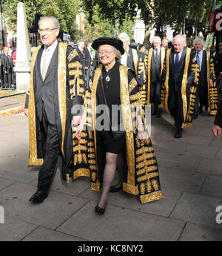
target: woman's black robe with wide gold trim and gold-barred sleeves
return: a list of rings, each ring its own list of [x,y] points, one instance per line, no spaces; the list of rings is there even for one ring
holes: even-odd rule
[[[74,139],[74,179],[80,176],[91,178],[91,189],[101,190],[105,164],[105,151],[102,148],[101,137],[96,131],[96,107],[99,78],[102,66],[95,70],[91,90],[87,91],[84,106],[87,111],[87,131],[82,133],[82,139]],[[131,70],[132,71],[132,70]],[[131,74],[131,75],[130,75]],[[147,137],[144,143],[138,140],[135,116],[141,113],[144,124],[146,119],[141,108],[141,93],[135,75],[124,65],[119,66],[117,76],[120,77],[121,110],[125,129],[125,157],[127,170],[124,173],[123,190],[129,194],[139,195],[141,203],[159,200],[162,197],[158,173],[158,163],[152,148],[152,142]]]

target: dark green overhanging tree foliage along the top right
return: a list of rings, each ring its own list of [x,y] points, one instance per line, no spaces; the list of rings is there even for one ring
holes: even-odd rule
[[[172,28],[180,28],[185,18],[191,19],[192,24],[205,22],[211,3],[212,0],[82,0],[91,24],[94,6],[98,4],[99,16],[108,19],[113,25],[116,20],[122,24],[126,17],[132,19],[141,10],[144,24],[158,24],[161,15],[163,24]]]

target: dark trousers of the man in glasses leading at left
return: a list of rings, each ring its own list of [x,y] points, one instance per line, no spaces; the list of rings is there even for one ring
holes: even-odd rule
[[[41,165],[38,173],[38,188],[48,191],[53,182],[55,168],[61,149],[58,140],[57,126],[51,125],[48,122],[44,104],[42,110],[41,131],[43,137],[46,138],[46,144],[44,147],[44,163]],[[64,163],[62,168],[67,168]]]

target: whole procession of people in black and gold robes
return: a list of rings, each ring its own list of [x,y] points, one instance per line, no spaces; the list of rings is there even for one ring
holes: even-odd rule
[[[155,36],[149,49],[135,49],[127,33],[73,49],[58,42],[55,17],[41,18],[38,27],[42,45],[33,52],[24,108],[29,165],[41,165],[30,202],[48,196],[59,155],[63,180],[90,177],[92,190],[101,191],[98,214],[104,214],[108,193],[121,189],[139,195],[141,203],[163,198],[146,107],[153,104],[158,118],[166,108],[177,139],[203,107],[217,114],[222,53],[214,59],[199,38],[193,49],[186,47],[183,35],[172,47]],[[116,170],[119,180],[112,186]]]

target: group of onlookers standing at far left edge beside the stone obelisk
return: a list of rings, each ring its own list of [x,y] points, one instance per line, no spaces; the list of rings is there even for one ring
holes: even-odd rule
[[[16,50],[13,49],[10,43],[0,45],[0,88],[1,89],[16,89]]]

